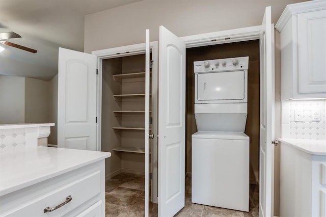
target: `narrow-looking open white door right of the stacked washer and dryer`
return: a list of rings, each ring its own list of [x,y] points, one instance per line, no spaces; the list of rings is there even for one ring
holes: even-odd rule
[[[259,216],[274,213],[274,25],[266,8],[260,32]]]

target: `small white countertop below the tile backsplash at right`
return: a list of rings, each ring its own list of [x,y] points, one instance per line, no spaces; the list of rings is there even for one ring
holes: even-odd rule
[[[307,152],[308,154],[326,155],[326,140],[278,139],[282,143]]]

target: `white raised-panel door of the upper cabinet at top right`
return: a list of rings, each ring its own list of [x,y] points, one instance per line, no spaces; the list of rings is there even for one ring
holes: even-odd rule
[[[298,92],[326,93],[326,10],[297,15]]]

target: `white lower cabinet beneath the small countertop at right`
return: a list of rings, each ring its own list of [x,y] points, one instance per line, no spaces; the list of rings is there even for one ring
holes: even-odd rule
[[[280,216],[326,216],[326,156],[281,143]]]

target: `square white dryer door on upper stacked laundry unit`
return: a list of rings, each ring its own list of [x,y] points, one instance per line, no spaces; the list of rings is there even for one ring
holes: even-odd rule
[[[245,71],[198,73],[198,103],[246,102]]]

